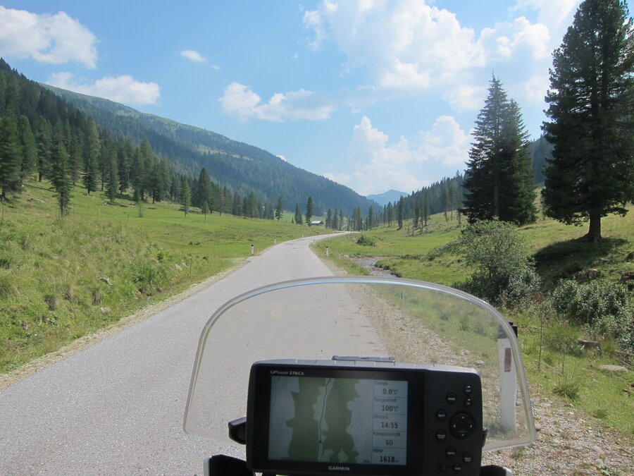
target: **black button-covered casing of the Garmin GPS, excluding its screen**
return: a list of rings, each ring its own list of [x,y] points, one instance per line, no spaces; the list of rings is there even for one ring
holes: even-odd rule
[[[387,379],[408,382],[407,464],[337,464],[269,460],[271,375]],[[478,372],[449,365],[368,360],[255,362],[247,401],[247,465],[281,475],[437,475],[480,473],[483,446],[482,386]]]

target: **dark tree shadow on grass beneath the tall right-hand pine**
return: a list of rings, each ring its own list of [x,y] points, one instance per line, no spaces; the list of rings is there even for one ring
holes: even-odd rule
[[[542,248],[533,257],[545,288],[552,288],[559,279],[573,278],[580,271],[600,266],[602,259],[609,259],[627,245],[628,240],[623,238],[604,238],[599,243],[561,241]]]

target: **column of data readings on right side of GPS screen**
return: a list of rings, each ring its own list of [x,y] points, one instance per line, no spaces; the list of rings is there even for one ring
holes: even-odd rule
[[[372,463],[407,464],[407,382],[375,380]]]

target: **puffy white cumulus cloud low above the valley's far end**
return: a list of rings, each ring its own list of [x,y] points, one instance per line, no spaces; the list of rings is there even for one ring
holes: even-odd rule
[[[353,128],[348,159],[350,173],[324,173],[326,178],[344,183],[362,195],[389,188],[418,190],[437,178],[436,171],[454,171],[468,159],[470,136],[452,116],[440,116],[430,130],[390,142],[389,136],[363,116]]]

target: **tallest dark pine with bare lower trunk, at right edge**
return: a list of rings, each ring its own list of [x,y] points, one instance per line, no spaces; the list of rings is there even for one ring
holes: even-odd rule
[[[634,34],[625,1],[585,0],[553,53],[546,96],[545,213],[590,221],[582,238],[601,240],[601,218],[634,200]]]

